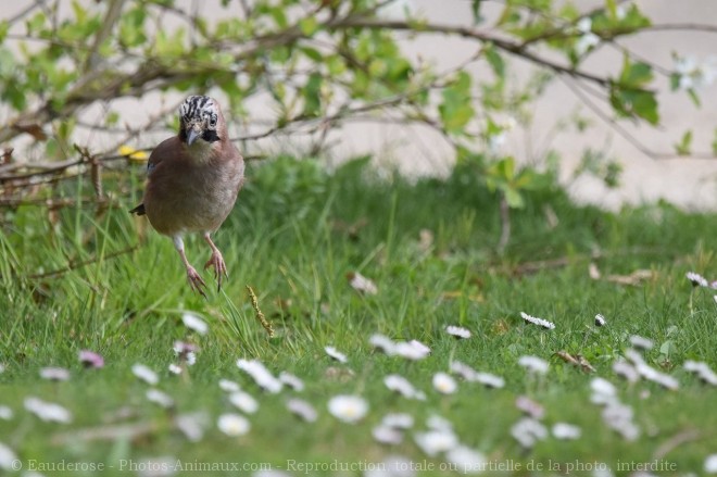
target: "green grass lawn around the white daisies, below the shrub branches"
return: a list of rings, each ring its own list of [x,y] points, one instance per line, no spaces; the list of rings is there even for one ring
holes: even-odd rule
[[[627,475],[618,462],[653,461],[664,445],[661,459],[676,466],[665,475],[700,473],[705,456],[717,449],[717,392],[682,369],[685,360],[717,368],[717,304],[709,290],[692,290],[684,277],[695,271],[709,278],[717,265],[715,215],[687,214],[667,204],[606,213],[575,206],[564,192],[550,189],[532,193],[526,209],[513,212],[511,244],[499,255],[496,201],[469,170],[460,168],[445,180],[410,184],[398,177],[379,180],[362,161],[329,174],[311,161],[277,160],[250,165],[238,205],[216,235],[229,279],[204,300],[186,284],[171,240],[126,212],[138,200],[140,183],[141,174],[133,172],[130,181],[115,188],[122,206],[101,214],[91,203],[55,214],[37,206],[3,212],[0,405],[10,406],[14,417],[0,419],[0,442],[18,454],[26,469],[33,460],[36,467],[85,462],[105,465],[103,475],[127,475],[136,474],[130,461],[138,465],[169,456],[190,464],[285,469],[295,461],[291,474],[303,475],[299,463],[338,462],[355,469],[401,454],[429,468],[422,475],[448,475],[441,470],[443,460],[424,456],[412,438],[432,414],[453,422],[461,441],[491,461],[512,468],[519,464],[515,475],[529,475],[528,465],[542,465],[532,474],[548,475],[565,474],[568,464],[579,469],[594,462]],[[86,189],[89,185],[80,183],[54,193],[75,197]],[[554,227],[545,218],[546,208],[559,219]],[[432,234],[428,248],[419,240],[424,229]],[[130,253],[113,255],[135,246]],[[200,239],[189,239],[187,249],[196,266],[209,258]],[[652,278],[637,286],[594,280],[588,274],[593,253],[603,276],[647,268]],[[37,277],[81,261],[89,263]],[[541,261],[546,265],[526,266]],[[378,293],[353,290],[347,279],[351,272],[372,278]],[[247,285],[256,290],[277,337],[268,339],[255,319]],[[183,326],[185,310],[205,318],[206,336]],[[528,326],[521,311],[556,328]],[[604,328],[593,327],[596,313],[607,318]],[[456,341],[443,331],[445,325],[464,326],[474,336]],[[432,353],[420,362],[376,354],[368,344],[375,332],[418,339]],[[647,363],[677,377],[680,390],[645,381],[628,385],[614,375],[612,364],[629,348],[631,335],[655,341]],[[172,347],[178,339],[200,347],[185,377],[166,371],[176,360]],[[325,346],[347,353],[349,363],[331,362]],[[105,367],[84,369],[77,362],[81,349],[103,354]],[[584,374],[553,355],[563,350],[582,353],[596,373]],[[526,377],[517,364],[526,354],[550,361],[548,375]],[[291,372],[304,379],[306,390],[261,393],[237,368],[239,357],[260,359],[276,374]],[[451,359],[504,377],[505,388],[460,382],[455,394],[439,396],[431,377],[446,371]],[[134,363],[160,373],[159,388],[175,399],[174,411],[147,401],[148,386],[130,373]],[[50,365],[70,368],[71,380],[40,379],[39,369]],[[423,389],[427,401],[390,393],[382,378],[391,373]],[[638,440],[625,441],[602,423],[600,407],[589,402],[594,376],[616,384],[620,400],[633,407],[642,430]],[[221,378],[237,380],[261,402],[249,416],[251,431],[241,438],[216,428],[219,414],[236,411],[217,386]],[[365,419],[349,425],[328,414],[326,402],[341,393],[368,400]],[[285,410],[290,394],[312,402],[319,419],[306,424],[291,416]],[[521,450],[510,434],[520,417],[514,405],[520,394],[545,406],[546,425],[577,424],[582,437],[549,438],[532,451]],[[23,409],[27,396],[62,404],[73,412],[73,423],[39,422]],[[198,411],[206,414],[209,425],[199,442],[190,442],[173,418]],[[414,430],[394,448],[374,442],[372,428],[383,414],[399,411],[414,415]],[[133,438],[73,437],[110,423],[143,423],[151,429]]]

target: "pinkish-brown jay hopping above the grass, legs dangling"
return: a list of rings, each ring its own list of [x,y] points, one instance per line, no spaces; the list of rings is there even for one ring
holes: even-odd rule
[[[183,236],[199,233],[212,250],[204,269],[214,268],[217,292],[228,278],[224,256],[211,234],[227,218],[244,181],[244,160],[229,140],[219,103],[190,96],[179,105],[179,131],[149,156],[142,202],[129,212],[147,215],[152,227],[172,238],[192,290],[206,298],[206,284],[187,260]]]

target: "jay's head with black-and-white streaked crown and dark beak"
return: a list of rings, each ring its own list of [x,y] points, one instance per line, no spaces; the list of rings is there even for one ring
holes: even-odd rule
[[[190,96],[179,106],[179,138],[193,145],[198,140],[212,143],[225,134],[219,104],[207,96]]]

